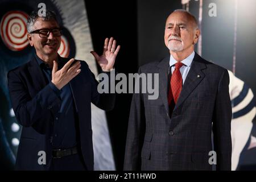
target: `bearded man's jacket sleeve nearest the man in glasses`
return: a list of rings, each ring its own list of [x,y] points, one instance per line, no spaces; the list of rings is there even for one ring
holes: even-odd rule
[[[139,68],[138,74],[141,74]],[[137,80],[139,81],[139,80]],[[135,84],[136,85],[136,84]],[[145,133],[145,113],[143,95],[141,94],[141,82],[139,83],[140,92],[133,94],[130,107],[130,117],[127,129],[125,161],[123,170],[141,170],[141,150]]]

